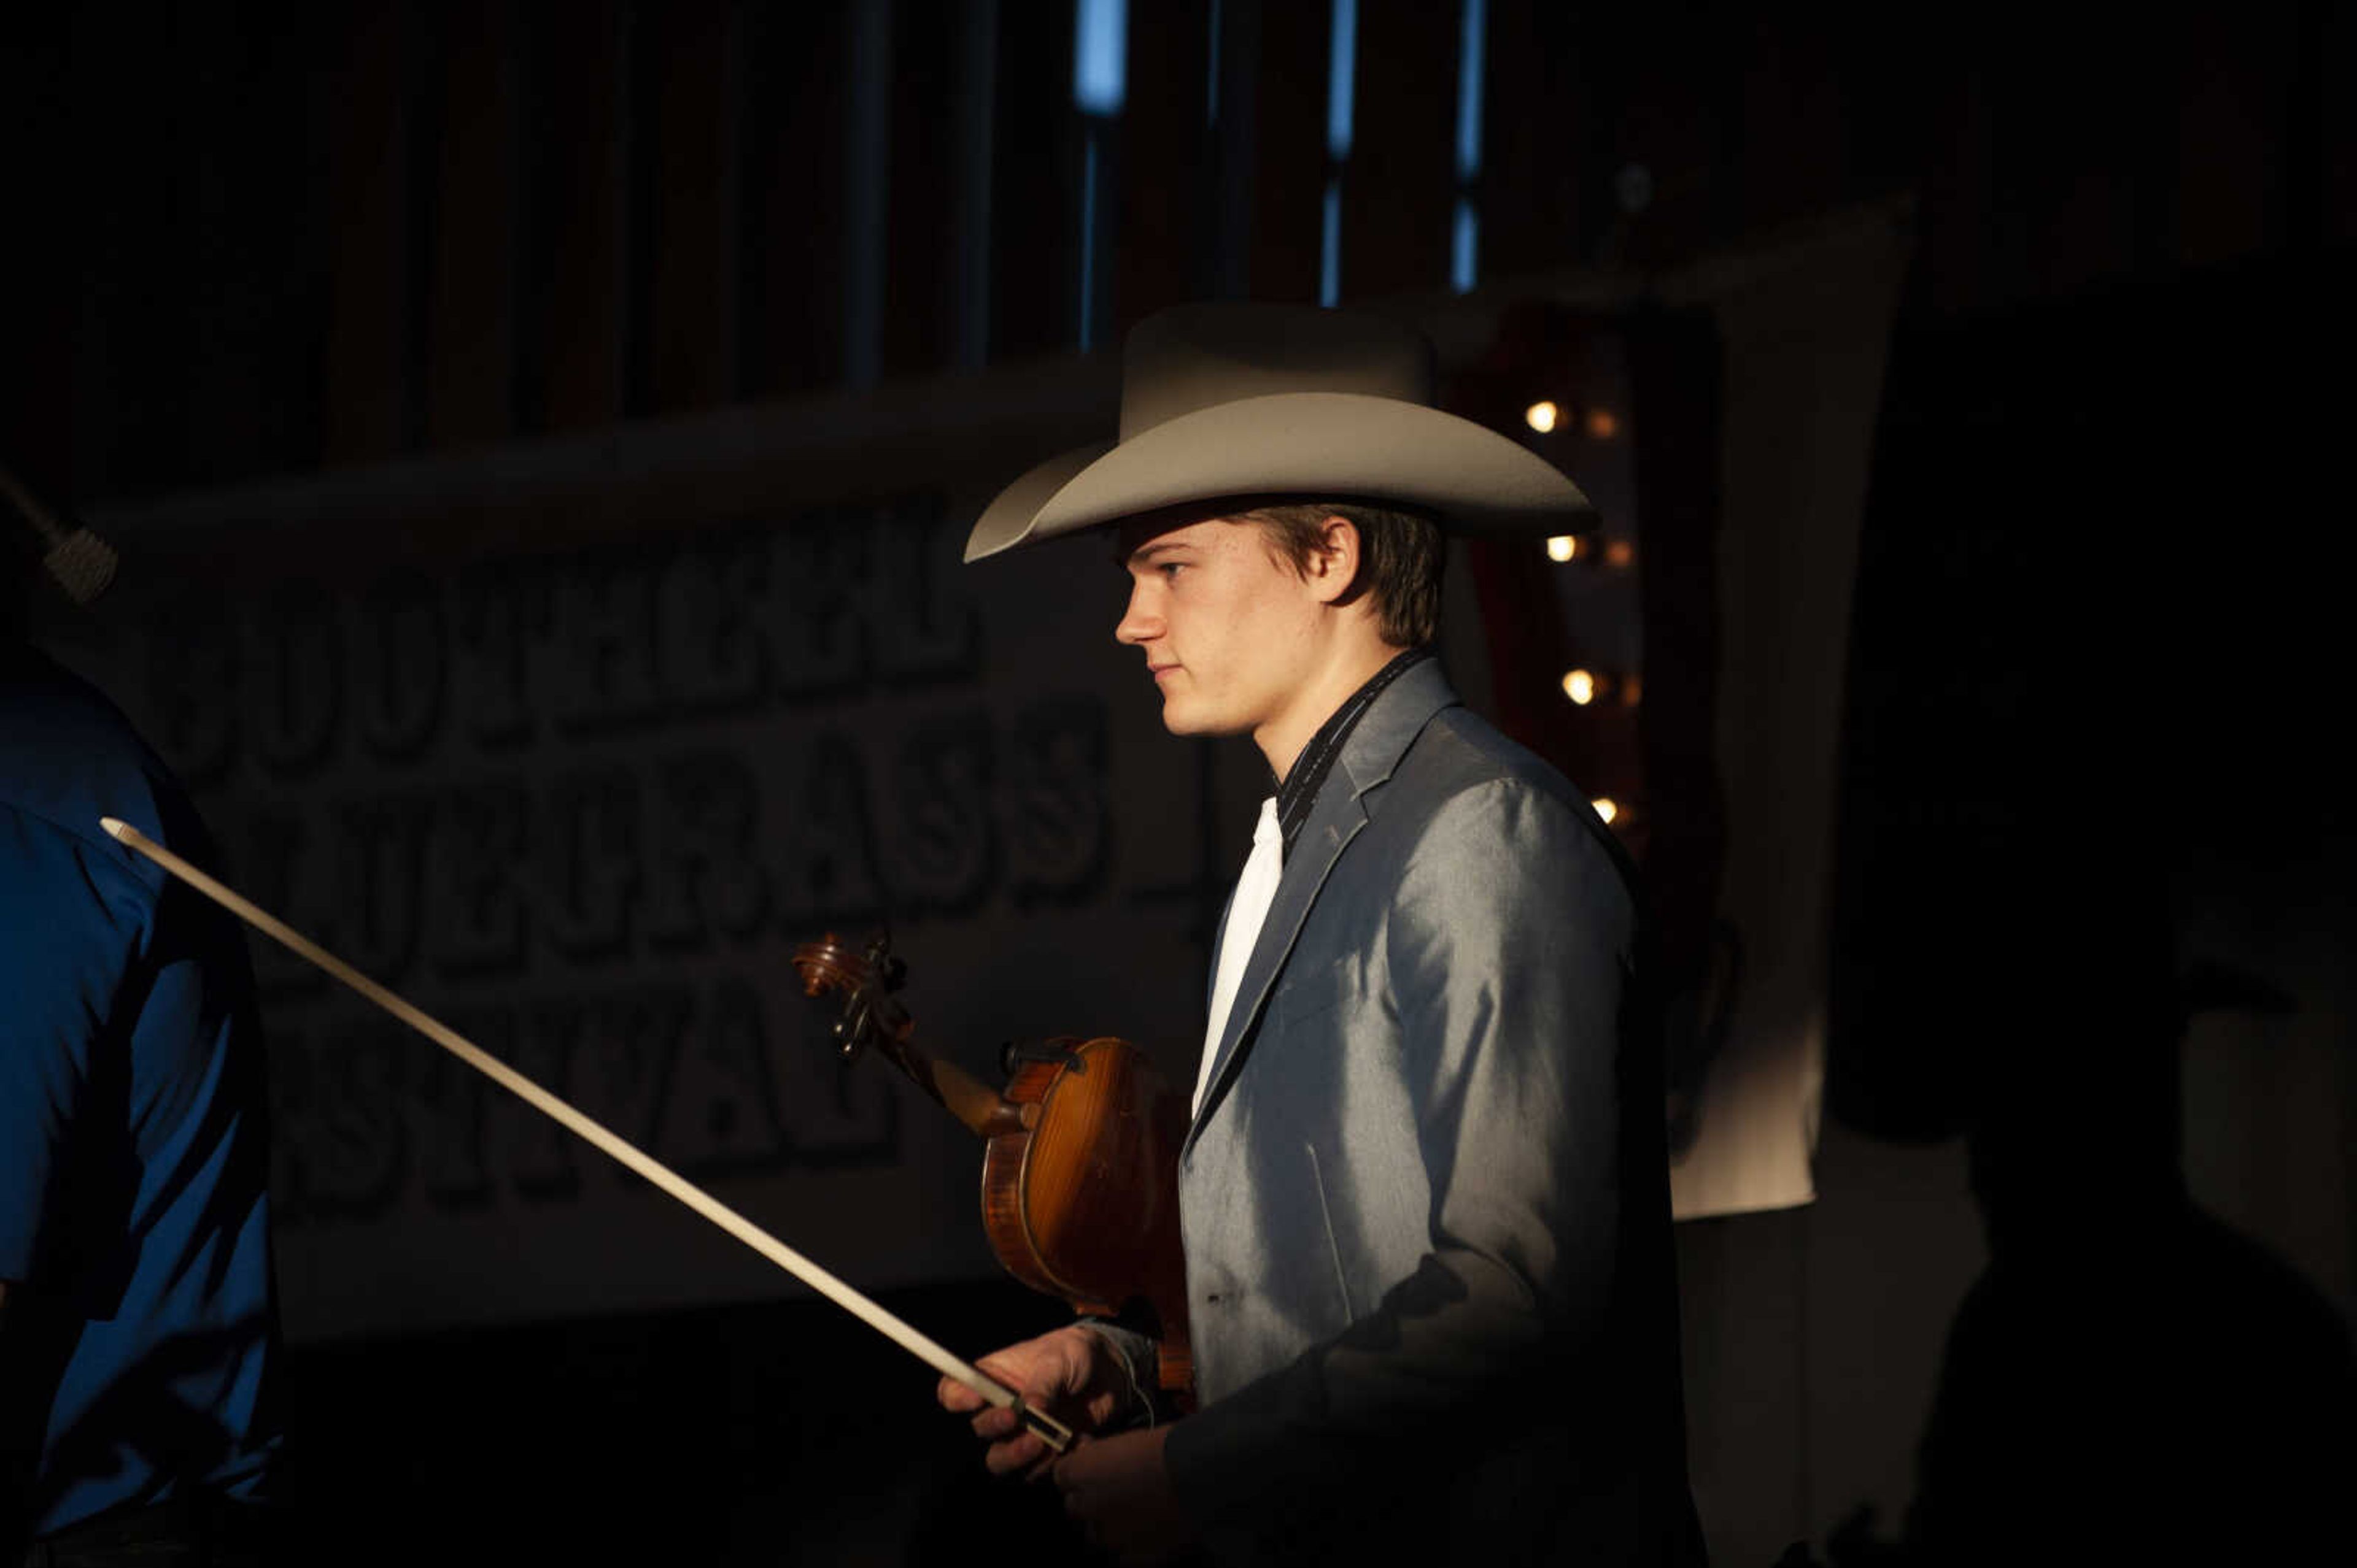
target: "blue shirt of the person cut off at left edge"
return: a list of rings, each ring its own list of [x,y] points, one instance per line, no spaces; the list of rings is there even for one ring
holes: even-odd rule
[[[99,817],[210,859],[125,718],[0,638],[0,1542],[259,1500],[278,1448],[243,932]]]

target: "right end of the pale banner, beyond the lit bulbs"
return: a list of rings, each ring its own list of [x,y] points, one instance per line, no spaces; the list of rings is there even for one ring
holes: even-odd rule
[[[1718,532],[1721,918],[1739,949],[1681,1220],[1817,1196],[1827,923],[1850,584],[1907,233],[1871,212],[1697,268],[1725,341]]]

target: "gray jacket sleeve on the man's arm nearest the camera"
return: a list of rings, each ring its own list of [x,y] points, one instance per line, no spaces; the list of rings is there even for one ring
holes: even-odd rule
[[[1478,1441],[1516,1401],[1577,1396],[1584,1361],[1610,1356],[1633,906],[1584,810],[1518,779],[1475,784],[1405,857],[1386,1048],[1431,1189],[1426,1253],[1341,1335],[1171,1429],[1171,1483],[1207,1523],[1299,1509],[1435,1439]]]

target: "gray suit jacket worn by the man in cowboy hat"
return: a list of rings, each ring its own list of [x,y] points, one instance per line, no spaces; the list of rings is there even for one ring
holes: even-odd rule
[[[1277,1561],[1688,1561],[1662,1097],[1589,803],[1435,664],[1301,829],[1181,1154],[1171,1483]]]

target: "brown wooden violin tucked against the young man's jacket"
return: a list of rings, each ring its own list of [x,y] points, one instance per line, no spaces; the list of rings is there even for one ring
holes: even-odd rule
[[[893,996],[907,965],[891,937],[853,951],[827,932],[794,949],[806,996],[844,994],[834,1043],[844,1059],[874,1050],[983,1140],[983,1231],[999,1264],[1075,1311],[1143,1307],[1160,1344],[1157,1382],[1193,1401],[1186,1337],[1186,1255],[1178,1241],[1178,1144],[1188,1104],[1141,1048],[1101,1036],[1004,1045],[1006,1088],[915,1045],[917,1024]]]

